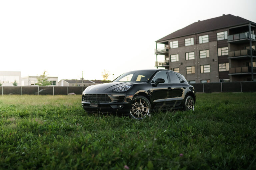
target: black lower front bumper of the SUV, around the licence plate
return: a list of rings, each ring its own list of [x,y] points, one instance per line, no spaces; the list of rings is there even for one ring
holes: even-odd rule
[[[111,101],[108,103],[99,102],[97,107],[90,106],[90,102],[82,101],[82,107],[87,112],[96,112],[96,113],[117,113],[117,114],[128,114],[131,110],[131,103],[133,95],[125,95],[122,102],[116,102],[111,94],[107,94]]]

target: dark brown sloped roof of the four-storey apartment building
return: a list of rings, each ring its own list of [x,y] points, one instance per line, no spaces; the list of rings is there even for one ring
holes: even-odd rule
[[[239,16],[234,16],[231,14],[223,15],[220,17],[211,18],[204,21],[198,21],[193,24],[190,24],[187,27],[177,30],[169,34],[168,36],[165,36],[157,40],[156,42],[163,42],[163,41],[178,38],[178,37],[208,32],[211,30],[223,29],[227,27],[234,27],[234,26],[249,24],[249,23],[256,25],[256,23],[246,20],[244,18],[241,18]]]

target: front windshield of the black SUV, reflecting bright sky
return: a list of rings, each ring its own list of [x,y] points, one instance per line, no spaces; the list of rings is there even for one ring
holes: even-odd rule
[[[154,74],[155,70],[148,70],[148,71],[130,71],[127,73],[122,74],[118,78],[116,78],[113,82],[120,82],[120,81],[142,81],[147,82],[150,77]]]

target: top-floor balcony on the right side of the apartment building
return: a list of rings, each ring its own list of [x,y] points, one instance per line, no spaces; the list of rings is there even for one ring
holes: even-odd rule
[[[251,34],[251,38],[252,38],[252,41],[256,41],[254,34]],[[248,42],[249,40],[250,40],[249,33],[240,33],[240,34],[229,35],[227,42],[239,44],[239,43]]]

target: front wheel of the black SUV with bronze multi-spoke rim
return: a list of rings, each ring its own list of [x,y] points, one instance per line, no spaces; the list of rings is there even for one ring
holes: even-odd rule
[[[151,112],[151,104],[144,96],[136,96],[132,100],[132,106],[129,116],[134,119],[143,119],[149,116]]]

